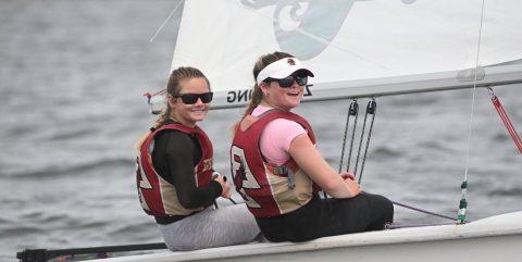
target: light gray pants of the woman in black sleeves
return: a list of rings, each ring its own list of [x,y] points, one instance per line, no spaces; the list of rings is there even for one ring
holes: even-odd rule
[[[246,244],[260,234],[245,203],[206,210],[169,225],[158,225],[172,251]]]

